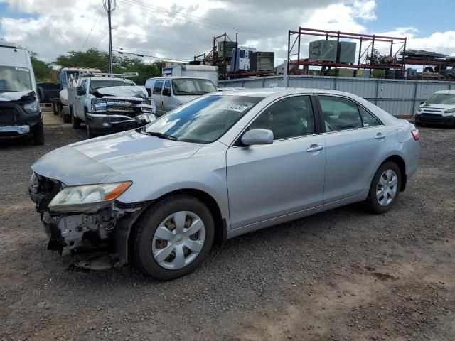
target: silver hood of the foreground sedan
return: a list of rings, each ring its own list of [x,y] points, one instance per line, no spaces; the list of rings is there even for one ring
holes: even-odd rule
[[[113,175],[128,180],[129,171],[189,158],[201,146],[123,131],[55,149],[31,168],[65,185],[103,183]]]

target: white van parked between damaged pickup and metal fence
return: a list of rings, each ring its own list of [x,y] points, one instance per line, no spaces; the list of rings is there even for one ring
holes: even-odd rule
[[[216,92],[211,80],[201,77],[155,77],[149,78],[145,87],[149,96],[154,99],[156,116],[161,116],[172,109],[191,100]]]

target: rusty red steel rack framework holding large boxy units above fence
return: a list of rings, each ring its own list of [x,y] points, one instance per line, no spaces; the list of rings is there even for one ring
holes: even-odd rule
[[[324,37],[327,40],[331,38],[336,38],[337,42],[340,39],[350,39],[350,40],[360,40],[360,46],[358,50],[358,63],[357,64],[345,64],[345,63],[332,63],[332,62],[319,62],[319,61],[310,61],[308,58],[301,58],[301,36],[320,36]],[[292,42],[292,40],[294,40]],[[375,50],[375,43],[390,43],[390,55],[394,60],[397,60],[399,64],[386,65],[386,64],[371,64],[368,59],[370,55],[373,55]],[[366,45],[365,48],[365,43]],[[297,46],[296,46],[297,45]],[[394,51],[394,45],[398,45],[398,49]],[[371,52],[370,52],[371,51]],[[291,68],[299,70],[299,66],[303,65],[304,68],[313,66],[322,66],[322,67],[344,67],[344,68],[353,68],[353,69],[402,69],[405,70],[404,60],[398,61],[398,53],[405,53],[406,51],[406,38],[402,37],[389,37],[389,36],[377,36],[370,34],[360,34],[360,33],[348,33],[341,31],[326,31],[318,30],[315,28],[303,28],[299,27],[299,31],[289,31],[288,33],[288,48],[287,48],[287,73]],[[291,57],[296,56],[297,58],[291,60]]]

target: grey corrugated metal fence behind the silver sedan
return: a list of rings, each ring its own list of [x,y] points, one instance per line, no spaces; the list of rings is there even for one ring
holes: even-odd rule
[[[455,90],[455,82],[386,80],[324,76],[272,76],[220,80],[220,87],[305,87],[357,94],[395,116],[413,115],[420,102],[439,90]]]

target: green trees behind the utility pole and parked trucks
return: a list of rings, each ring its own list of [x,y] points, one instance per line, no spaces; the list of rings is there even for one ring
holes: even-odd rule
[[[95,48],[86,51],[70,51],[67,55],[59,55],[53,63],[61,67],[90,67],[107,72],[109,54]],[[131,78],[137,85],[144,85],[148,78],[161,75],[161,63],[144,63],[140,58],[114,56],[112,68],[114,73],[138,72],[139,77]]]

